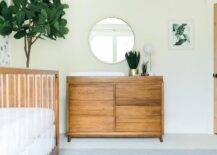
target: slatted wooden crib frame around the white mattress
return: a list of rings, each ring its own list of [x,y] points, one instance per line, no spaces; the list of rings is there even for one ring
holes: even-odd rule
[[[55,112],[56,147],[59,146],[59,73],[57,71],[0,67],[0,108],[38,107]]]

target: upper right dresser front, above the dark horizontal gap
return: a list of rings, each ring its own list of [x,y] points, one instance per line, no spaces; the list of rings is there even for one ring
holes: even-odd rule
[[[116,105],[159,106],[161,97],[161,85],[136,83],[116,85]]]

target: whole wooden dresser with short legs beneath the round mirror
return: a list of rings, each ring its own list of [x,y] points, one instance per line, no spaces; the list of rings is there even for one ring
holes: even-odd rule
[[[163,77],[67,77],[72,137],[158,137],[163,141]]]

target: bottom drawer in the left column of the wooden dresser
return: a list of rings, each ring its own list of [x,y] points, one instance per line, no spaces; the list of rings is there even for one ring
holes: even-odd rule
[[[114,117],[74,116],[69,120],[69,132],[113,132]]]

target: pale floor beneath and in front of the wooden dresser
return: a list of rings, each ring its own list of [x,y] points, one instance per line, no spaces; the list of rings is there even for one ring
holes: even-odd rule
[[[61,155],[216,155],[216,135],[165,135],[157,138],[75,138],[61,136]]]

